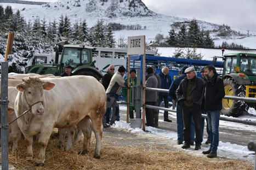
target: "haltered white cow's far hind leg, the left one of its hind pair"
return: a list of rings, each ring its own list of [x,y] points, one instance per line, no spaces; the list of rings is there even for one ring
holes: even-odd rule
[[[78,154],[87,154],[90,147],[90,138],[92,137],[92,124],[89,117],[84,118],[78,123],[78,128],[83,132],[83,150]]]

